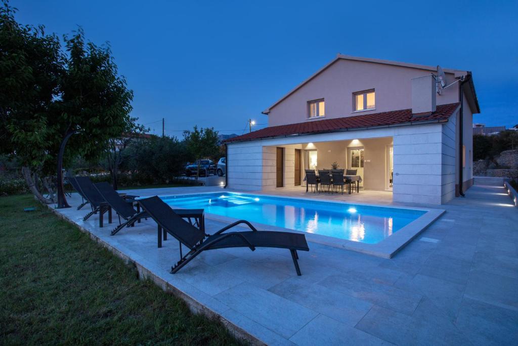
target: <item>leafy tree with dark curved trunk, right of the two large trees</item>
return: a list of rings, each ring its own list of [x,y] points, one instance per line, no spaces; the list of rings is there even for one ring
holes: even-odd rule
[[[57,156],[57,207],[69,207],[63,191],[62,167],[67,142],[85,158],[98,158],[108,141],[132,127],[130,112],[133,91],[126,88],[124,77],[108,46],[98,47],[84,41],[79,29],[64,37],[68,57],[62,78],[60,114],[60,150]],[[71,137],[74,137],[71,139]]]

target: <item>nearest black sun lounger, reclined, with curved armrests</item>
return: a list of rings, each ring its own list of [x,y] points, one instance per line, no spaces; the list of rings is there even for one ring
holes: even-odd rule
[[[239,220],[223,227],[211,236],[205,234],[190,223],[178,216],[164,201],[154,196],[139,200],[142,208],[148,212],[158,224],[158,237],[167,232],[180,242],[180,260],[171,267],[174,274],[189,263],[194,257],[206,250],[215,250],[228,247],[249,247],[254,251],[256,247],[278,247],[290,250],[297,275],[300,274],[297,250],[309,251],[304,234],[276,231],[258,231],[246,220]],[[246,224],[251,231],[227,232],[228,229],[239,224]],[[189,248],[189,253],[182,256],[182,244]]]

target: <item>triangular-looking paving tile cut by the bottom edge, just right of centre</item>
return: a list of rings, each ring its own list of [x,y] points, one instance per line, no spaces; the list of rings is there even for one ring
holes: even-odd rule
[[[290,338],[297,345],[390,345],[362,330],[319,315]]]

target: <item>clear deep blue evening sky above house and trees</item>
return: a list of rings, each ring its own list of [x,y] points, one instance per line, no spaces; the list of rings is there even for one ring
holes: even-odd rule
[[[160,133],[247,120],[338,52],[473,72],[488,126],[518,123],[518,2],[11,0],[18,21],[109,41],[133,114]],[[264,127],[258,125],[257,128]]]

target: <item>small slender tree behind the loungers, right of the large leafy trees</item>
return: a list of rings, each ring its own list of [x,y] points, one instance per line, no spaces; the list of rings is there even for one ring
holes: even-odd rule
[[[131,118],[126,123],[126,129],[117,137],[112,137],[108,140],[108,145],[105,147],[105,168],[108,169],[111,175],[111,182],[113,189],[118,189],[117,175],[119,174],[119,167],[126,158],[125,150],[135,140],[139,140],[143,133],[149,131],[145,126],[137,124],[138,118]]]

